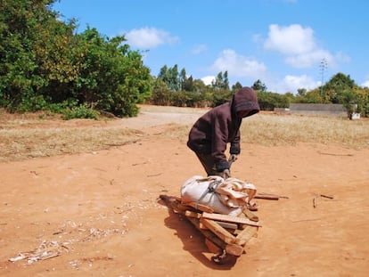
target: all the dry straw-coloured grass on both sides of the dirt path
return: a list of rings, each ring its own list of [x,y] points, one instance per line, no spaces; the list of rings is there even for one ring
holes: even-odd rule
[[[143,111],[181,114],[193,112],[194,118],[206,110],[143,106]],[[139,122],[139,118],[137,118]],[[14,116],[0,113],[0,161],[77,154],[135,143],[148,134],[137,124],[127,128],[117,120],[40,119],[35,115]],[[161,135],[185,143],[192,124],[171,123]],[[264,145],[296,143],[336,143],[353,149],[369,148],[369,120],[347,118],[303,117],[260,113],[242,123],[242,142]]]

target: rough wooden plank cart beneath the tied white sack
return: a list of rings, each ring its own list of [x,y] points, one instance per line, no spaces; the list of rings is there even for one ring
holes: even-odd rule
[[[258,216],[245,210],[240,216],[214,213],[212,208],[197,203],[183,203],[180,198],[160,195],[168,208],[187,218],[205,237],[205,244],[215,256],[212,261],[224,265],[244,253],[246,243],[257,235],[261,224]]]

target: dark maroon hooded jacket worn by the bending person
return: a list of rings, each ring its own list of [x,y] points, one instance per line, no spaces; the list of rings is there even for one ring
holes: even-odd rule
[[[209,110],[193,125],[187,146],[201,154],[208,154],[214,158],[217,171],[229,169],[225,157],[227,143],[231,143],[230,154],[239,154],[240,126],[242,118],[237,112],[244,112],[243,117],[250,117],[258,113],[258,98],[253,89],[243,87],[234,94],[230,102]]]

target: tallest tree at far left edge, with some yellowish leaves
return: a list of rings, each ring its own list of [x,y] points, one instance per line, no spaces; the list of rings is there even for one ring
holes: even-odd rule
[[[10,110],[42,109],[53,80],[65,84],[76,77],[78,65],[69,58],[74,22],[56,20],[54,2],[1,1],[0,96]]]

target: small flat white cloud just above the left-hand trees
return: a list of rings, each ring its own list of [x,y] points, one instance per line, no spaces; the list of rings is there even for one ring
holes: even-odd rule
[[[172,37],[164,30],[155,28],[132,29],[125,35],[127,43],[143,49],[152,49],[159,45],[173,44],[178,37]]]

